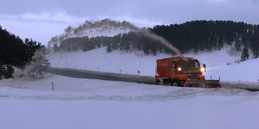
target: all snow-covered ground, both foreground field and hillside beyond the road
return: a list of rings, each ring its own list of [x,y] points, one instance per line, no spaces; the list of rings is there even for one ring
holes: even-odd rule
[[[195,57],[205,63],[207,79],[258,82],[259,59],[235,63],[221,51]],[[52,67],[154,76],[155,61],[166,57],[142,52],[107,53],[105,47],[89,52],[49,54]],[[136,53],[136,55],[135,55]],[[138,56],[137,56],[138,55]],[[227,65],[231,63],[231,65]],[[52,91],[52,82],[54,91]],[[0,128],[258,128],[259,92],[242,89],[183,88],[54,74],[42,79],[0,81]]]

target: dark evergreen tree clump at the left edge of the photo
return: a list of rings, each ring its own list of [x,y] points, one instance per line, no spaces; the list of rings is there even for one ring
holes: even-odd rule
[[[0,26],[0,78],[13,78],[14,67],[24,68],[33,61],[35,52],[41,49],[42,54],[46,52],[46,47],[41,43],[26,38],[24,42]]]

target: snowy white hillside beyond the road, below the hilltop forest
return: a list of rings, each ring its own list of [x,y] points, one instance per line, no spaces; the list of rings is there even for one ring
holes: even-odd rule
[[[203,74],[206,79],[219,79],[224,81],[258,82],[259,59],[235,63],[240,56],[230,56],[228,48],[220,51],[200,52],[184,54],[186,57],[194,57],[201,64],[206,64],[207,71]],[[143,51],[126,52],[114,50],[106,52],[106,47],[87,52],[59,52],[47,55],[52,67],[87,69],[102,72],[114,72],[155,76],[156,60],[172,57],[170,54],[158,53],[157,56],[146,55]],[[231,65],[227,65],[231,63]]]

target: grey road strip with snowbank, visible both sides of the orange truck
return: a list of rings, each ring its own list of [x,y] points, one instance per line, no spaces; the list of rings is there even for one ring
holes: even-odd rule
[[[110,81],[137,82],[143,84],[155,84],[155,77],[139,76],[132,74],[119,74],[112,72],[97,72],[82,69],[51,68],[49,72],[67,77],[102,79]],[[259,82],[241,82],[241,81],[220,81],[221,87],[240,88],[249,91],[259,91]]]

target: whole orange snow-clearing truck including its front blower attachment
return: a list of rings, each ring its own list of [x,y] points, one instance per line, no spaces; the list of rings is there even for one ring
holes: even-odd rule
[[[156,84],[180,87],[221,88],[219,80],[205,80],[206,65],[197,59],[170,57],[157,60]]]

